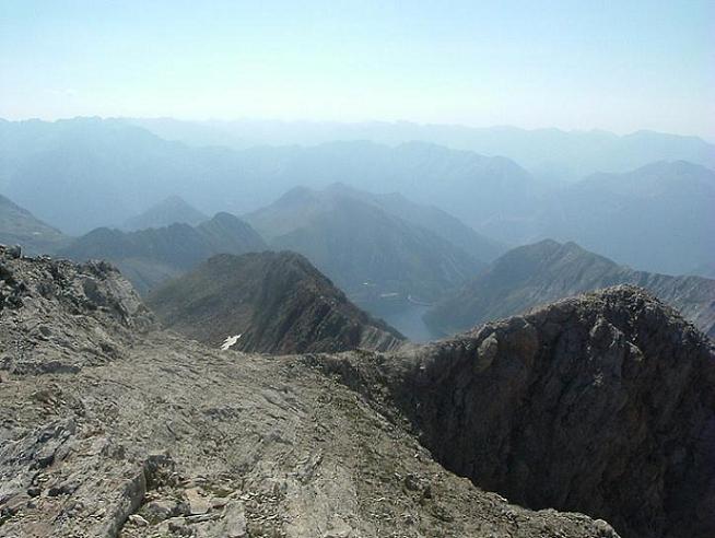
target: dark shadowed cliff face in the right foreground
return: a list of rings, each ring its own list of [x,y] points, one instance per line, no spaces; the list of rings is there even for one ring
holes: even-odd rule
[[[448,469],[626,537],[715,536],[715,353],[675,311],[617,286],[384,363]]]

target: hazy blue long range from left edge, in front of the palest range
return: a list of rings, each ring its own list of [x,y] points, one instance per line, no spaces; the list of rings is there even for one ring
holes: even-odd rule
[[[173,195],[210,211],[241,214],[296,185],[324,188],[336,180],[448,207],[474,225],[523,219],[517,211],[532,209],[537,189],[534,178],[508,159],[426,143],[191,148],[99,118],[0,122],[0,188],[72,234],[124,222],[146,200]],[[65,203],[56,203],[60,198]]]

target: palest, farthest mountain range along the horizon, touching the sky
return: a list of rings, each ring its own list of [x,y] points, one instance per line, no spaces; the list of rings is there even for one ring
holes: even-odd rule
[[[180,121],[171,118],[137,118],[127,121],[167,140],[236,149],[266,144],[316,145],[345,140],[399,145],[422,140],[455,150],[506,156],[539,177],[567,182],[595,172],[628,172],[664,160],[684,160],[715,167],[714,144],[698,137],[646,130],[618,136],[603,130],[474,128],[409,121]]]

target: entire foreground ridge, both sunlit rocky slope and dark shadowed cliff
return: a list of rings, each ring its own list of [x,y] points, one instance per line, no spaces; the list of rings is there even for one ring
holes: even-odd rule
[[[0,283],[2,536],[715,534],[715,352],[641,289],[280,356],[161,330],[106,264],[0,248]]]

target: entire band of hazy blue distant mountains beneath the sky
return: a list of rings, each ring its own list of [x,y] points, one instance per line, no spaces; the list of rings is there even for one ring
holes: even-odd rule
[[[413,126],[403,127],[412,132]],[[484,143],[516,137],[524,151],[581,159],[584,174],[619,172],[578,180],[579,172],[570,175],[571,184],[561,184],[520,166],[528,155],[517,164],[505,156],[414,141],[395,147],[338,141],[241,151],[197,148],[163,140],[126,120],[78,118],[0,121],[0,189],[44,222],[79,235],[124,223],[169,196],[209,214],[243,214],[272,203],[297,185],[319,190],[340,182],[379,195],[403,195],[420,206],[417,212],[398,208],[401,202],[389,197],[371,203],[442,237],[449,235],[450,243],[472,256],[484,245],[470,245],[473,234],[459,237],[464,230],[450,227],[442,218],[439,224],[427,223],[424,206],[446,210],[497,245],[547,237],[574,241],[634,268],[672,274],[703,273],[715,264],[710,238],[715,173],[702,165],[712,165],[715,159],[712,144],[649,132],[629,137],[508,128],[484,132],[482,140],[468,131]],[[610,156],[594,157],[599,154]],[[588,164],[591,157],[611,165],[595,168]]]

